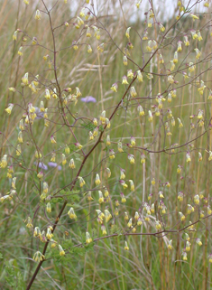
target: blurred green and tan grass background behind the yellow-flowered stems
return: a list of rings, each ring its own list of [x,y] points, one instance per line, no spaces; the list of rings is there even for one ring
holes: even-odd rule
[[[153,1],[154,2],[154,1]],[[48,5],[52,5],[49,2]],[[134,3],[132,2],[132,5]],[[61,88],[75,87],[80,88],[82,97],[92,95],[97,98],[97,103],[83,103],[78,100],[78,104],[69,105],[71,112],[78,117],[86,116],[88,118],[99,117],[102,110],[106,109],[106,117],[113,112],[115,105],[122,98],[126,87],[120,83],[126,70],[137,70],[138,67],[130,61],[127,67],[123,64],[122,50],[127,44],[124,35],[125,29],[132,26],[130,35],[134,49],[131,52],[131,58],[138,66],[143,67],[143,60],[146,62],[150,54],[146,53],[147,42],[142,41],[145,24],[143,20],[137,20],[136,23],[130,23],[131,12],[127,9],[121,12],[120,6],[116,10],[112,2],[106,2],[106,5],[98,6],[98,20],[104,25],[106,30],[101,29],[101,39],[97,41],[94,37],[87,39],[85,30],[75,29],[71,23],[75,18],[70,15],[78,15],[80,6],[76,11],[71,11],[71,5],[64,5],[59,1],[52,10],[51,17],[53,27],[57,27],[65,21],[69,21],[69,27],[61,26],[55,31],[56,48],[60,50],[68,47],[73,41],[79,39],[78,51],[72,48],[62,50],[57,53],[57,72]],[[152,4],[153,5],[153,4]],[[176,5],[176,4],[175,4]],[[201,4],[203,5],[203,3]],[[109,11],[106,7],[110,8]],[[35,10],[43,9],[40,2],[34,2],[27,6],[22,1],[1,1],[0,9],[0,32],[1,32],[1,68],[0,68],[0,87],[1,87],[1,132],[0,138],[1,154],[8,154],[9,164],[14,164],[14,176],[17,177],[17,192],[19,199],[14,201],[5,201],[0,205],[0,236],[2,253],[2,263],[0,264],[0,287],[2,289],[24,289],[32,277],[36,264],[32,261],[32,256],[36,250],[42,251],[43,245],[32,237],[32,229],[25,227],[24,220],[30,216],[33,219],[33,226],[39,226],[46,229],[47,225],[54,222],[56,214],[60,211],[62,202],[57,200],[51,203],[52,212],[45,213],[45,204],[40,202],[38,192],[35,190],[36,166],[34,166],[35,146],[32,142],[36,140],[36,145],[41,149],[42,162],[47,164],[51,159],[51,152],[57,150],[57,162],[60,164],[60,154],[64,152],[64,146],[68,144],[73,148],[75,143],[73,137],[66,126],[60,126],[51,123],[51,126],[44,127],[43,119],[35,120],[32,126],[32,135],[23,132],[23,155],[20,158],[15,156],[15,146],[17,145],[18,122],[23,115],[24,102],[22,96],[17,92],[12,93],[9,87],[21,89],[21,78],[25,72],[30,73],[30,79],[37,74],[40,75],[41,82],[47,85],[48,81],[55,82],[53,71],[49,70],[47,62],[42,57],[51,54],[44,48],[32,46],[32,41],[27,37],[23,42],[23,33],[18,33],[18,40],[13,42],[14,31],[19,28],[27,33],[31,38],[37,37],[38,42],[45,47],[52,49],[51,29],[47,15],[42,14],[41,21],[33,19]],[[144,9],[144,8],[143,8]],[[210,8],[209,8],[210,9]],[[142,13],[141,8],[136,14]],[[205,10],[204,10],[205,11]],[[210,10],[208,10],[210,11]],[[139,18],[138,18],[139,19]],[[143,201],[152,203],[159,202],[158,192],[164,192],[164,203],[167,207],[167,214],[162,217],[166,229],[181,229],[189,225],[189,220],[194,222],[198,220],[199,210],[205,210],[207,215],[206,203],[200,201],[200,206],[195,207],[195,212],[186,216],[185,222],[180,222],[179,211],[186,213],[187,204],[194,204],[193,197],[200,192],[210,203],[210,163],[207,161],[211,150],[211,131],[207,130],[211,118],[211,102],[207,100],[208,89],[211,88],[211,36],[210,36],[210,14],[199,14],[199,20],[193,22],[187,14],[175,23],[176,19],[167,19],[164,23],[166,30],[171,27],[166,40],[161,46],[165,64],[161,65],[159,71],[157,67],[157,58],[154,57],[143,72],[143,83],[135,80],[134,87],[138,93],[137,100],[127,98],[124,104],[115,113],[111,121],[111,128],[107,129],[103,141],[106,141],[106,135],[109,134],[112,145],[115,149],[116,143],[122,138],[124,144],[130,143],[130,137],[136,138],[136,145],[148,148],[151,151],[160,151],[164,148],[170,148],[173,144],[184,145],[189,140],[197,138],[189,145],[185,145],[175,150],[174,154],[152,153],[148,154],[142,150],[124,147],[124,154],[116,154],[115,161],[106,158],[108,151],[106,143],[102,142],[95,151],[88,157],[81,176],[85,177],[87,182],[85,191],[95,188],[94,179],[96,173],[100,174],[110,194],[111,202],[98,205],[97,190],[92,192],[94,201],[88,203],[85,192],[80,191],[78,198],[72,198],[69,201],[69,207],[74,206],[78,215],[77,222],[71,222],[64,211],[60,224],[55,231],[54,239],[60,242],[63,248],[69,248],[69,254],[60,258],[58,250],[52,250],[47,254],[48,260],[42,264],[42,268],[37,276],[32,289],[210,289],[211,287],[211,267],[208,263],[208,255],[211,252],[211,221],[210,218],[200,220],[195,226],[196,231],[189,232],[191,241],[191,250],[188,253],[188,261],[182,261],[181,252],[185,247],[185,236],[183,232],[168,233],[163,238],[153,236],[129,236],[127,242],[129,251],[124,250],[125,238],[121,235],[127,228],[124,220],[124,211],[127,211],[129,217],[134,217],[134,212],[143,208]],[[96,23],[101,26],[97,20],[93,19],[88,24]],[[133,28],[134,26],[134,28]],[[203,41],[194,41],[190,37],[190,29],[201,30]],[[111,37],[108,35],[110,33]],[[79,35],[83,34],[81,37]],[[148,29],[148,36],[152,39],[161,41],[162,34],[157,25],[152,25]],[[183,50],[179,53],[179,63],[176,65],[175,84],[177,89],[177,98],[172,98],[171,103],[163,103],[164,116],[153,117],[153,122],[148,121],[148,110],[156,104],[155,97],[158,93],[163,93],[167,97],[167,91],[170,85],[167,82],[167,70],[170,69],[170,61],[173,59],[174,51],[177,48],[177,41],[183,41],[183,35],[189,35],[190,46],[187,48],[182,44]],[[113,40],[112,40],[113,39]],[[99,53],[97,45],[105,42],[105,51]],[[87,45],[90,43],[93,53],[88,54]],[[23,46],[23,57],[19,57],[17,51]],[[201,59],[196,65],[195,74],[200,80],[204,80],[207,88],[204,95],[198,93],[198,85],[194,82],[186,84],[191,80],[183,80],[182,71],[187,71],[190,61],[195,62],[194,48],[198,47],[202,52]],[[52,54],[51,54],[52,56]],[[155,73],[152,82],[150,82],[146,73],[152,70]],[[158,76],[161,73],[164,76]],[[113,93],[110,87],[113,83],[119,81],[118,92]],[[32,102],[34,106],[39,107],[40,101],[44,99],[44,87],[38,94],[32,95],[30,89],[24,89],[24,99],[26,103]],[[152,98],[144,98],[152,97]],[[145,117],[139,117],[137,112],[138,102],[145,110]],[[14,103],[12,115],[8,117],[5,108],[8,103]],[[57,102],[51,100],[47,102],[44,99],[45,108],[48,107],[48,115],[51,120],[61,123],[60,109]],[[176,126],[171,127],[171,137],[164,134],[164,123],[167,120],[167,109],[171,108],[172,115],[175,117]],[[205,126],[198,127],[197,117],[192,122],[195,129],[190,129],[190,115],[198,114],[198,109],[204,110]],[[177,117],[180,117],[183,123],[181,129],[178,128]],[[73,123],[73,118],[68,115],[69,123]],[[89,126],[88,120],[79,120],[77,126],[73,128],[80,144],[84,145],[85,152],[95,144],[96,141],[88,141]],[[199,137],[205,130],[207,133]],[[50,137],[54,134],[57,139],[57,145],[51,145]],[[192,145],[192,146],[190,146]],[[203,161],[198,162],[198,151],[203,155]],[[146,163],[140,164],[140,154],[146,156]],[[191,163],[186,163],[186,153],[191,154]],[[127,154],[134,154],[135,164],[129,163]],[[14,156],[12,158],[11,156]],[[82,161],[80,153],[71,152],[69,158],[75,158],[77,168]],[[101,162],[103,160],[103,162]],[[19,166],[22,163],[24,170]],[[183,166],[182,173],[177,175],[178,164]],[[110,167],[112,176],[106,179],[106,167]],[[108,234],[114,232],[120,233],[118,237],[101,239],[92,243],[90,247],[78,247],[81,242],[85,242],[85,232],[88,230],[93,239],[101,237],[101,229],[97,224],[96,209],[104,210],[108,208],[111,212],[115,210],[115,200],[120,201],[120,192],[123,191],[119,185],[120,168],[124,168],[126,180],[132,179],[135,184],[135,191],[129,189],[124,191],[127,197],[125,204],[119,206],[119,215],[115,218],[115,227],[112,229],[111,221],[106,225]],[[60,189],[72,181],[76,171],[72,172],[68,164],[62,167],[61,171],[51,169],[46,173],[45,180],[49,183],[50,192]],[[180,179],[180,176],[183,178]],[[155,178],[156,184],[152,188],[151,181]],[[166,188],[161,183],[170,182],[171,187]],[[39,185],[39,182],[37,182]],[[1,193],[5,195],[10,191],[11,180],[6,177],[6,170],[1,169]],[[76,190],[80,190],[78,184]],[[184,200],[180,203],[177,199],[178,192],[184,192]],[[152,201],[148,201],[148,195],[152,192]],[[121,202],[120,202],[121,203]],[[36,215],[34,213],[36,212]],[[123,231],[124,230],[124,231]],[[68,231],[68,235],[66,234]],[[143,226],[137,227],[136,232],[152,233],[153,223],[143,221]],[[199,248],[195,239],[200,238],[203,245]],[[173,240],[173,250],[167,249],[168,241]],[[53,257],[53,258],[52,258]]]

